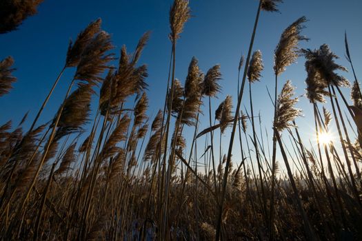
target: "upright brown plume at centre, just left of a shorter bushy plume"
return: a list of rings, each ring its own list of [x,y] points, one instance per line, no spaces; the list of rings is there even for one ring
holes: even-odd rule
[[[201,105],[201,83],[203,74],[199,70],[198,61],[192,58],[188,67],[188,76],[185,81],[184,106],[181,116],[181,123],[186,125],[196,125],[197,114]]]

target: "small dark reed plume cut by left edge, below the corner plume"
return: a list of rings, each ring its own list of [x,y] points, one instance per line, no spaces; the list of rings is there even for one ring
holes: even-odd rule
[[[12,72],[15,70],[11,68],[13,64],[14,59],[11,56],[0,61],[0,96],[8,94],[12,89],[12,83],[17,81],[17,78],[12,76]]]

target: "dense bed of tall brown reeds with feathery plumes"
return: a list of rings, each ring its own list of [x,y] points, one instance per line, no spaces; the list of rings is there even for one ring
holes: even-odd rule
[[[23,2],[26,8],[1,3],[1,34],[16,30],[41,1]],[[191,15],[188,1],[174,0],[164,105],[152,118],[148,69],[139,63],[150,33],[129,53],[124,45],[114,48],[101,19],[81,30],[34,120],[26,114],[19,125],[0,124],[1,240],[361,240],[362,94],[347,35],[352,85],[327,44],[299,47],[308,41],[305,17],[281,29],[274,53],[263,53],[274,54],[274,66],[265,66],[254,50],[259,16],[278,12],[281,3],[259,1],[248,52],[235,70],[239,94],[214,107],[220,65],[203,72],[194,57],[185,80],[175,74],[178,39]],[[292,81],[280,78],[298,58],[308,76],[315,148],[299,134],[303,110],[296,108]],[[0,97],[16,81],[13,62],[11,56],[0,62]],[[74,76],[54,118],[39,123],[70,67]],[[253,106],[253,83],[265,68],[275,76],[274,93],[265,99],[274,107],[270,136],[257,131],[261,119]],[[337,140],[328,137],[332,124]],[[185,129],[192,138],[183,137]],[[236,147],[240,156],[232,156]]]

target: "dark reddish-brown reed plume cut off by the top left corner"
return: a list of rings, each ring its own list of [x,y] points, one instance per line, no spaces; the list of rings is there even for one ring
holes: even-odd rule
[[[43,0],[1,1],[0,34],[17,30],[23,21],[37,13]]]

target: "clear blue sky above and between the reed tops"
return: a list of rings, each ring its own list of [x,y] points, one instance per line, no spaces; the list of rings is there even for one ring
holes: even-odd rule
[[[103,29],[112,34],[117,56],[121,45],[125,44],[132,52],[143,32],[152,31],[140,63],[148,64],[149,113],[154,115],[157,109],[163,107],[168,76],[171,47],[168,40],[168,12],[171,4],[171,0],[44,1],[39,13],[26,19],[20,30],[0,35],[0,58],[8,55],[14,57],[17,68],[14,75],[18,78],[14,90],[0,98],[0,125],[10,119],[17,123],[28,110],[29,120],[34,118],[63,67],[69,39],[75,39],[80,30],[99,17],[103,20]],[[177,45],[176,76],[184,81],[192,56],[199,59],[203,72],[220,63],[223,92],[219,100],[214,101],[215,108],[227,94],[232,94],[236,101],[237,67],[241,52],[248,51],[257,6],[257,0],[190,1],[193,17],[186,23]],[[349,68],[344,58],[343,42],[344,31],[347,30],[356,74],[361,76],[361,9],[362,2],[356,0],[285,0],[279,6],[280,13],[261,13],[254,50],[259,49],[263,53],[265,70],[261,82],[253,85],[254,108],[256,112],[261,111],[262,124],[268,131],[272,122],[272,104],[266,86],[270,90],[274,87],[273,51],[284,28],[304,15],[310,21],[306,23],[303,34],[310,41],[303,43],[302,47],[314,49],[328,43],[332,51],[341,56],[338,63]],[[298,95],[304,94],[305,88],[303,62],[304,59],[300,58],[299,63],[288,67],[280,78],[281,83],[292,80]],[[49,121],[54,116],[73,72],[67,70],[39,123]],[[352,73],[345,73],[345,76],[353,80]],[[97,99],[94,98],[94,101]],[[248,106],[247,101],[248,95],[245,95],[243,102]],[[297,123],[301,132],[308,135],[312,124],[311,105],[301,98],[299,107],[303,109],[305,117],[299,118]]]

